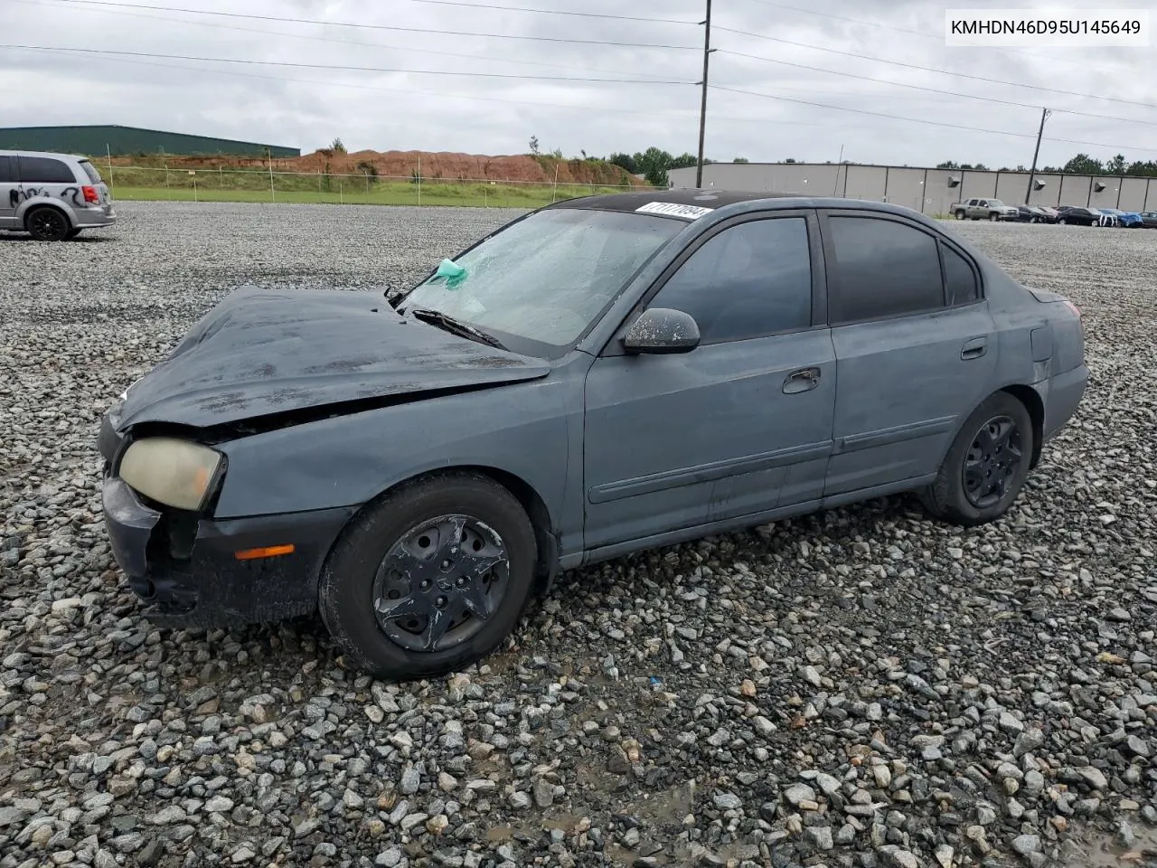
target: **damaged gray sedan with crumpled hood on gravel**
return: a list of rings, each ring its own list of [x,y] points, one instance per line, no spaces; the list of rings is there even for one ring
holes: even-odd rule
[[[111,407],[156,623],[319,611],[355,668],[451,671],[560,569],[897,492],[997,520],[1088,377],[1071,303],[894,205],[598,196],[430,265],[238,289]]]

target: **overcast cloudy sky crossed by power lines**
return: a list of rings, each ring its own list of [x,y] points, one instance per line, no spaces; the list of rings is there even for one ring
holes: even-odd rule
[[[463,0],[538,9],[698,22],[702,0]],[[286,23],[131,9],[153,7],[317,19],[396,28],[456,30],[450,36],[379,28]],[[970,0],[977,7],[1040,2]],[[1052,7],[1062,3],[1048,3]],[[1145,49],[948,49],[945,6],[933,0],[715,0],[710,82],[760,94],[855,108],[1027,138],[907,123],[784,100],[708,91],[706,152],[715,160],[835,161],[926,165],[942,160],[990,167],[1029,164],[1039,108],[1046,125],[1040,164],[1077,152],[1157,160],[1157,109],[1046,93],[905,68],[818,49],[933,69],[1157,105],[1157,44]],[[1071,5],[1097,8],[1095,0]],[[1103,7],[1147,8],[1136,0]],[[872,24],[843,20],[856,19]],[[1154,21],[1157,24],[1157,20]],[[728,32],[744,30],[776,41]],[[472,35],[469,35],[472,34]],[[478,34],[632,43],[679,49],[584,45]],[[930,36],[929,36],[930,35]],[[288,145],[303,153],[340,137],[373,148],[524,153],[531,135],[567,156],[698,147],[702,28],[568,15],[471,9],[420,0],[0,0],[0,43],[56,49],[184,54],[199,58],[367,66],[530,76],[668,80],[591,83],[516,78],[330,71],[0,49],[0,125],[121,124]],[[799,43],[793,45],[789,43]],[[699,46],[698,49],[694,46]],[[818,47],[803,47],[818,46]],[[778,61],[738,57],[759,56]],[[871,80],[845,75],[854,73]],[[923,93],[897,83],[1024,103],[1003,105]],[[1119,119],[1066,113],[1077,110]],[[1145,124],[1128,123],[1142,120]],[[1076,145],[1059,139],[1101,142]],[[1148,148],[1148,149],[1147,149]]]

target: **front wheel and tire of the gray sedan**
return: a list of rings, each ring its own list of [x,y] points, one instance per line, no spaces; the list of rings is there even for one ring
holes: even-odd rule
[[[478,662],[514,630],[537,561],[535,529],[509,491],[479,473],[426,477],[403,484],[342,531],[322,569],[318,609],[353,668],[391,681],[444,675]],[[455,575],[455,566],[473,568],[474,581]],[[486,609],[486,617],[471,613]],[[432,624],[441,625],[441,637]]]

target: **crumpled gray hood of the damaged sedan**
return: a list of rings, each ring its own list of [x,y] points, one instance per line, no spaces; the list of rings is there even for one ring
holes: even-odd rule
[[[128,389],[117,428],[209,427],[548,372],[540,359],[405,319],[376,295],[242,287]]]

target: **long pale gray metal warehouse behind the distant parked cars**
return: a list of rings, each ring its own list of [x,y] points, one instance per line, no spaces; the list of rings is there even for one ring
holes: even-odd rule
[[[671,169],[676,187],[693,187],[695,169]],[[924,214],[948,214],[961,199],[1025,201],[1026,171],[924,169],[847,163],[708,163],[703,186],[890,201]],[[1037,174],[1033,205],[1082,205],[1125,211],[1157,209],[1157,178]]]

